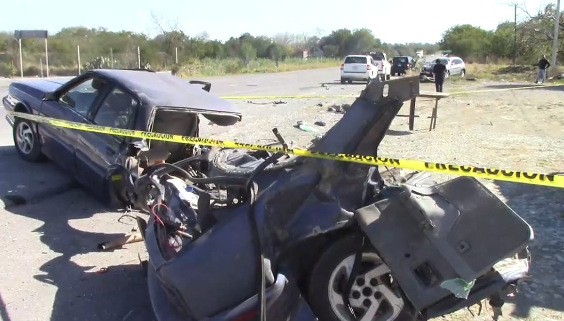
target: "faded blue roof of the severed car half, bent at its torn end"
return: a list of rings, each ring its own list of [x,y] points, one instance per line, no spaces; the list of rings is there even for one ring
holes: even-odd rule
[[[121,83],[139,96],[143,105],[149,108],[186,108],[202,114],[219,113],[241,117],[241,113],[231,102],[202,90],[201,85],[191,84],[170,73],[135,69],[93,69],[87,73]]]

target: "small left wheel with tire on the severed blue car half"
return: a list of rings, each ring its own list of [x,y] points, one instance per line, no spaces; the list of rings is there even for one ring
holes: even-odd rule
[[[12,129],[14,146],[21,158],[28,162],[42,162],[45,155],[41,153],[41,141],[35,124],[28,119],[16,117]]]

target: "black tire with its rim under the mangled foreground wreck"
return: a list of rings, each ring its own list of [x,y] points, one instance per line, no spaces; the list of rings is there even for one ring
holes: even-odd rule
[[[350,235],[337,240],[321,254],[312,270],[308,287],[308,301],[319,320],[349,320],[338,292],[343,284],[346,283],[348,275],[350,275],[350,272],[347,273],[348,271],[346,271],[346,266],[352,266],[355,251],[359,246],[359,239],[360,235]],[[374,316],[381,312],[391,312],[389,318],[382,319],[381,321],[418,320],[415,309],[413,309],[413,306],[403,295],[403,291],[399,288],[397,282],[392,280],[389,273],[376,274],[375,277],[366,279],[366,274],[371,271],[382,268],[384,270],[387,269],[384,261],[381,260],[376,251],[366,248],[363,251],[362,262],[363,267],[369,267],[360,271],[357,280],[362,279],[364,283],[358,283],[360,281],[355,282],[350,294],[350,304],[358,315],[358,319],[361,319],[364,316],[363,314],[369,312],[374,313]],[[385,291],[378,291],[379,288]],[[369,292],[370,294],[366,295]],[[380,297],[376,298],[376,295]],[[363,306],[364,301],[367,300],[372,302],[372,304],[378,304],[375,311],[369,311],[367,307]],[[382,304],[382,301],[386,303]],[[374,319],[374,316],[371,316],[371,320]]]

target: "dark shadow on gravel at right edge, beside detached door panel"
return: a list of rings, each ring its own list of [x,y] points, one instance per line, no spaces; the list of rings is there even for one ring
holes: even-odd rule
[[[564,189],[506,181],[495,184],[508,206],[532,226],[535,237],[529,247],[530,279],[522,283],[517,296],[507,300],[515,304],[511,316],[559,319],[564,311]],[[535,315],[535,310],[543,312]],[[545,314],[555,314],[548,310],[560,313]]]

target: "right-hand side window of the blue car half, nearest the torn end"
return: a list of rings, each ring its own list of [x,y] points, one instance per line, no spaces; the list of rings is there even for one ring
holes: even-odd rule
[[[99,126],[129,129],[139,102],[129,93],[113,88],[96,111],[92,122]]]

